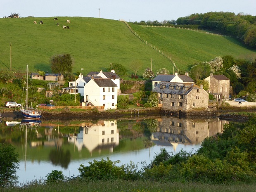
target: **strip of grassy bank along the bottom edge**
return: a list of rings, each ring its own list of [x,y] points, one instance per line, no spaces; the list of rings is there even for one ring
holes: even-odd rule
[[[192,182],[168,182],[168,181],[92,181],[73,180],[68,183],[56,183],[40,185],[31,182],[24,187],[2,189],[2,192],[255,192],[256,184],[228,184],[213,185]]]

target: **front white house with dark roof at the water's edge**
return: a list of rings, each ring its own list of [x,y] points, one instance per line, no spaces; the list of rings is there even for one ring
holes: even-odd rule
[[[104,109],[116,109],[117,85],[108,78],[92,79],[84,86],[85,102]]]

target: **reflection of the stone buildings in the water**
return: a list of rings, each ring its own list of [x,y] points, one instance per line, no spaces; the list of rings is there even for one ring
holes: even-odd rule
[[[178,144],[201,145],[206,137],[223,132],[223,124],[228,121],[214,119],[178,119],[160,118],[156,132],[152,133],[152,141],[157,145],[173,146]]]

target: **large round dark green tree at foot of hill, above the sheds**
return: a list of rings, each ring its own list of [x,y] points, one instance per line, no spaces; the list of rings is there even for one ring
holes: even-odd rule
[[[52,57],[51,63],[52,72],[58,73],[59,76],[62,73],[71,72],[73,69],[73,61],[70,54]]]

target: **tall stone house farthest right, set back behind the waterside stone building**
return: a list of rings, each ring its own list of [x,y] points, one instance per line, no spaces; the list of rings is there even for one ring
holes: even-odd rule
[[[209,93],[213,94],[217,100],[228,100],[230,95],[230,79],[224,75],[213,75],[205,78],[209,82]]]

